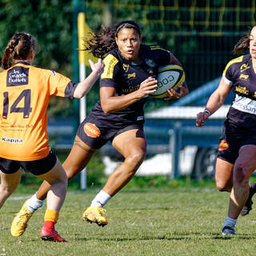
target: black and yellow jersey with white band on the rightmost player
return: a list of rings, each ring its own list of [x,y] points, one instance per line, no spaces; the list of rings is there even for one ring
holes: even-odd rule
[[[222,77],[234,90],[228,121],[241,128],[256,130],[256,74],[250,54],[228,62]]]

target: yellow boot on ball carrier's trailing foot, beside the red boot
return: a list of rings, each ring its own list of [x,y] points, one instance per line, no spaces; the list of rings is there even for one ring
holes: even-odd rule
[[[29,199],[26,200],[26,202]],[[18,237],[24,233],[26,230],[26,224],[30,220],[33,213],[30,213],[29,210],[26,208],[26,202],[24,202],[22,209],[16,214],[14,217],[13,222],[10,226],[10,234],[14,237]]]

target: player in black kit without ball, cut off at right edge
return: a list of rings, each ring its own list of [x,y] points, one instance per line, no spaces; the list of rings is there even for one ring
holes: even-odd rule
[[[249,214],[256,191],[256,184],[249,183],[256,169],[256,26],[240,39],[233,51],[238,54],[248,49],[250,54],[234,58],[226,65],[217,90],[211,94],[205,111],[198,113],[196,121],[197,126],[203,126],[210,114],[222,106],[230,90],[234,90],[234,102],[220,138],[215,174],[218,190],[231,191],[223,235],[235,234],[238,215]]]

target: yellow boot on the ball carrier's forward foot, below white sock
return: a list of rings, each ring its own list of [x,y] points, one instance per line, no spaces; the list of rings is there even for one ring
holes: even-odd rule
[[[92,206],[87,208],[85,212],[82,214],[82,219],[86,222],[96,223],[98,226],[106,226],[107,220],[102,215],[105,214],[106,210],[101,206]]]

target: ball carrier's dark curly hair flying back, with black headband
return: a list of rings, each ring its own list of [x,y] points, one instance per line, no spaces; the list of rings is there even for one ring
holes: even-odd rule
[[[90,39],[84,38],[85,49],[82,50],[90,50],[94,57],[104,58],[110,50],[118,47],[115,38],[123,28],[134,29],[141,35],[141,30],[134,21],[122,21],[117,26],[102,26],[102,30],[99,33],[91,32]]]

